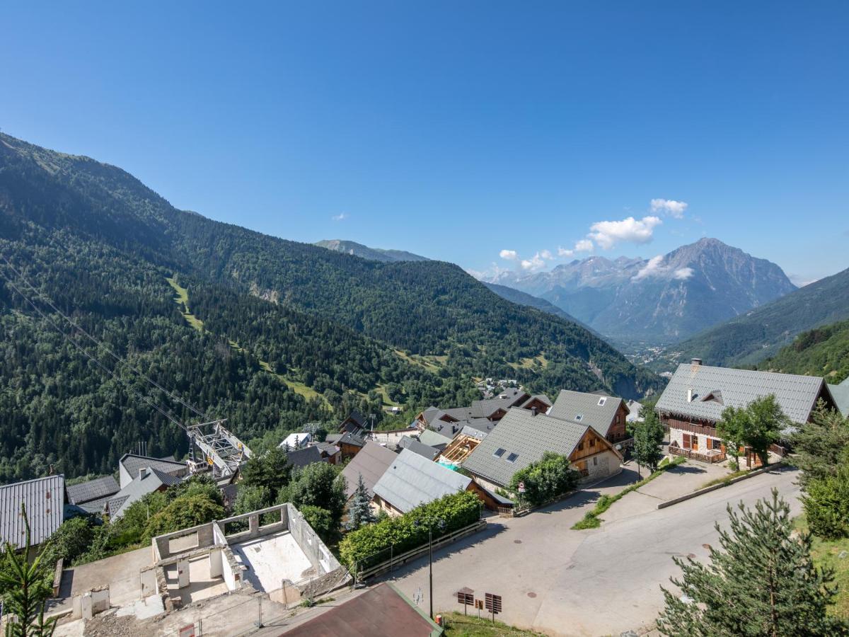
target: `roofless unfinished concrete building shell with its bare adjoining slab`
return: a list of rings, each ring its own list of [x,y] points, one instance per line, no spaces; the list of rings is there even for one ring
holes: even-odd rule
[[[301,512],[284,504],[166,533],[147,549],[69,569],[53,612],[88,620],[111,611],[150,634],[148,620],[167,621],[181,608],[191,615],[201,600],[207,611],[229,595],[285,609],[350,579]]]

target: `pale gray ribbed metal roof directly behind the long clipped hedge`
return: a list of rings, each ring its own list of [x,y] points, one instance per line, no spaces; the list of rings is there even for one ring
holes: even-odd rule
[[[374,494],[402,513],[469,488],[471,478],[425,459],[409,449],[395,460],[374,485]]]

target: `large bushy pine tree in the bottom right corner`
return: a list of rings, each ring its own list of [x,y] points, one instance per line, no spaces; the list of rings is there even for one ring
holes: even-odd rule
[[[796,637],[846,635],[849,626],[827,617],[834,603],[834,572],[813,566],[811,536],[793,536],[790,506],[773,489],[755,510],[728,505],[730,527],[717,524],[722,550],[710,561],[672,559],[683,578],[672,579],[682,595],[664,589],[661,634],[674,637]]]

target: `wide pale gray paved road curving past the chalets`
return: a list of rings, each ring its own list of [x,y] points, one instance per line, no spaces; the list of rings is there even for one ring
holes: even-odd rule
[[[654,497],[630,493],[611,507],[602,527],[588,531],[569,527],[599,493],[621,486],[605,483],[522,518],[492,518],[486,532],[436,553],[434,606],[437,612],[459,610],[454,593],[468,586],[481,597],[502,595],[501,618],[522,628],[562,635],[639,629],[661,609],[659,585],[678,574],[672,555],[705,558],[703,545],[717,542],[714,521],[728,520],[726,505],[753,505],[773,488],[798,513],[795,481],[796,471],[774,471],[663,510]],[[427,561],[420,560],[391,578],[410,598],[420,589],[425,612],[427,573]]]

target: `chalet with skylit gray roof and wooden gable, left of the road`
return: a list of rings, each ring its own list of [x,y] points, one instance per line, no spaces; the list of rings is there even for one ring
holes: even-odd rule
[[[621,454],[593,427],[527,409],[510,409],[465,459],[463,468],[486,489],[505,488],[516,471],[542,459],[547,451],[567,456],[582,482],[621,471]]]

